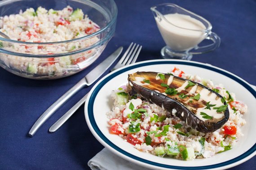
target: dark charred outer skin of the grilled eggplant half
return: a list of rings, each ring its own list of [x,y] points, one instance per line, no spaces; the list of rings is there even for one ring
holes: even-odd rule
[[[153,74],[153,75],[155,75],[155,72],[136,72],[134,74],[137,74],[137,75]],[[173,115],[177,116],[182,121],[185,121],[185,123],[187,123],[191,128],[193,128],[199,132],[214,132],[217,129],[221,128],[229,119],[229,111],[228,111],[228,109],[226,109],[225,113],[224,113],[224,118],[221,119],[220,121],[218,121],[216,123],[211,122],[211,121],[204,122],[203,120],[199,119],[196,115],[194,115],[187,107],[185,107],[180,102],[177,102],[176,100],[169,98],[168,96],[166,96],[162,93],[158,93],[154,90],[147,89],[143,86],[135,84],[131,80],[132,75],[133,74],[128,75],[128,88],[127,88],[128,93],[129,92],[134,93],[134,91],[136,91],[138,94],[141,95],[141,97],[146,98],[150,102],[168,110],[170,112],[170,114],[172,114],[172,110],[175,109],[177,112]],[[186,81],[186,79],[183,79],[181,77],[177,77],[177,76],[175,76],[175,77],[180,80]],[[194,81],[191,81],[191,82],[193,82],[197,85],[200,85],[201,87],[203,87],[205,89],[210,90],[212,93],[216,93],[216,92],[212,91],[212,89],[209,89],[197,82],[194,82]],[[222,98],[222,96],[220,94],[216,93],[216,95]],[[226,102],[224,102],[224,104],[226,104]],[[182,112],[183,112],[183,114],[182,114]]]

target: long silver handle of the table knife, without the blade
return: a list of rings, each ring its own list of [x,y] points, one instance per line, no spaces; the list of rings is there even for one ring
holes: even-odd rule
[[[36,120],[35,124],[31,127],[28,135],[34,136],[36,131],[44,124],[44,122],[53,115],[53,113],[58,110],[66,101],[68,101],[75,93],[87,85],[85,78],[81,79],[76,83],[71,89],[69,89],[65,94],[62,95],[56,102],[52,104],[39,119]]]

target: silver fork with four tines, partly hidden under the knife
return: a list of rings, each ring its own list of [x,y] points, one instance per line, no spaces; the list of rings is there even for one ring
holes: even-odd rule
[[[136,46],[136,43],[131,43],[128,49],[125,51],[122,58],[111,70],[111,72],[118,68],[135,63],[138,58],[138,55],[140,54],[141,48],[142,46],[140,46],[139,44],[137,44]],[[70,110],[68,110],[60,119],[58,119],[57,122],[55,122],[49,128],[49,132],[51,133],[56,132],[75,113],[75,111],[86,101],[87,96],[88,96],[88,93],[81,100],[79,100],[79,102],[77,102]]]

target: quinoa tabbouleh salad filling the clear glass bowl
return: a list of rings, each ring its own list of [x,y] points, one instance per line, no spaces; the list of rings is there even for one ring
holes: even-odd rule
[[[0,65],[14,74],[33,79],[52,79],[72,75],[96,60],[106,47],[105,42],[100,43],[101,34],[100,37],[96,34],[84,38],[98,30],[100,26],[90,20],[81,9],[73,9],[70,6],[62,10],[29,8],[25,11],[20,10],[18,14],[0,17],[0,31],[12,40],[20,42],[1,41],[0,47],[6,51],[22,54],[19,56],[2,53]],[[72,53],[97,43],[101,45]],[[47,57],[27,57],[26,54]],[[59,54],[63,55],[50,57]]]

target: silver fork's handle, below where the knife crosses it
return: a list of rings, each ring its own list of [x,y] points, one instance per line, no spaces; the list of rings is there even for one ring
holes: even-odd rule
[[[88,93],[75,104],[70,110],[68,110],[60,119],[57,120],[50,128],[49,132],[56,132],[74,113],[75,111],[86,101]]]

